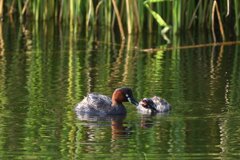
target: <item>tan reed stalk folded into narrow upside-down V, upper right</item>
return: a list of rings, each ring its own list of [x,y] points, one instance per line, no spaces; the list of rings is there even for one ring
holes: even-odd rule
[[[224,34],[223,25],[222,25],[221,15],[220,15],[218,4],[217,4],[216,0],[214,0],[213,7],[212,7],[212,34],[213,34],[213,40],[214,40],[214,42],[216,42],[216,34],[215,34],[215,27],[214,27],[215,10],[217,12],[218,24],[219,24],[222,40],[225,41],[225,34]]]

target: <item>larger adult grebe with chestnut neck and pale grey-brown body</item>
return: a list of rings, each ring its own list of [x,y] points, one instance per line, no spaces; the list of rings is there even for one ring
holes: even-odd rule
[[[88,113],[93,115],[126,114],[126,108],[122,102],[130,102],[138,105],[130,88],[118,88],[112,94],[112,99],[98,93],[88,94],[77,104],[75,111],[78,114]]]

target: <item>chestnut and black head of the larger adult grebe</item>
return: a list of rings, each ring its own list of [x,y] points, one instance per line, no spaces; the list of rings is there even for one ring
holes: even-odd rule
[[[113,92],[112,95],[113,104],[121,104],[122,102],[130,102],[134,105],[138,105],[138,102],[134,99],[132,89],[130,88],[118,88]]]

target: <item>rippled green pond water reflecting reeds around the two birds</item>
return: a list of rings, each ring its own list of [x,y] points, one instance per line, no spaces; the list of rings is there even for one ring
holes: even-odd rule
[[[172,45],[211,41],[199,35]],[[238,159],[240,46],[139,50],[164,43],[1,24],[0,159]],[[126,116],[75,115],[87,93],[120,86],[173,110],[150,116],[126,104]]]

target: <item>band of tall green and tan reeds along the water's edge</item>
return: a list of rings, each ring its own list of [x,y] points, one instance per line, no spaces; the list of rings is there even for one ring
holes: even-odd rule
[[[151,32],[156,28],[162,31],[166,26],[172,26],[173,33],[206,28],[220,29],[223,35],[227,27],[240,33],[238,0],[0,0],[2,15],[22,22],[54,20],[69,25],[72,31],[82,27],[117,27],[123,39],[126,32]],[[229,19],[234,26],[225,23]]]

